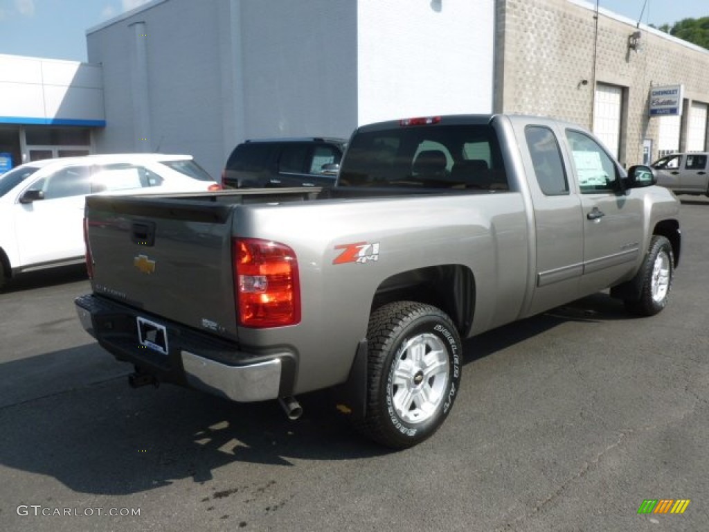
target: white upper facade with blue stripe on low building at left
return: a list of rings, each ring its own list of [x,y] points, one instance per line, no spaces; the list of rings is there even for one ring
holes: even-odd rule
[[[0,55],[0,123],[101,126],[101,67]]]

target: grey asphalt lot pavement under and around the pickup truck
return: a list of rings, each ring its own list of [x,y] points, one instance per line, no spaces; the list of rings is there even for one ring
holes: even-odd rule
[[[288,421],[170,385],[79,326],[81,268],[0,293],[3,531],[705,531],[709,529],[709,201],[681,196],[669,306],[606,294],[465,343],[440,431],[392,453],[327,392]],[[683,514],[639,514],[646,500]]]

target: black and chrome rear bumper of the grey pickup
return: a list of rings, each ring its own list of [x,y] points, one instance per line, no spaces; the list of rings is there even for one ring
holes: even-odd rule
[[[235,343],[92,294],[77,298],[74,304],[84,330],[102,348],[161,381],[239,402],[292,394],[296,358],[288,350],[247,352]],[[138,316],[164,325],[169,337],[167,355],[140,345]]]

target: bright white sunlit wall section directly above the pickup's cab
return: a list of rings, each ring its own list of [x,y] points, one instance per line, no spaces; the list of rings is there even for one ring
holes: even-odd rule
[[[491,113],[494,0],[358,0],[359,123]]]

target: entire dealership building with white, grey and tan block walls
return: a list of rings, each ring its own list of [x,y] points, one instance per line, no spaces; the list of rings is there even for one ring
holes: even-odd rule
[[[709,148],[709,50],[583,0],[152,0],[86,45],[0,55],[0,172],[161,151],[216,176],[246,138],[448,113],[580,123],[627,166]]]

